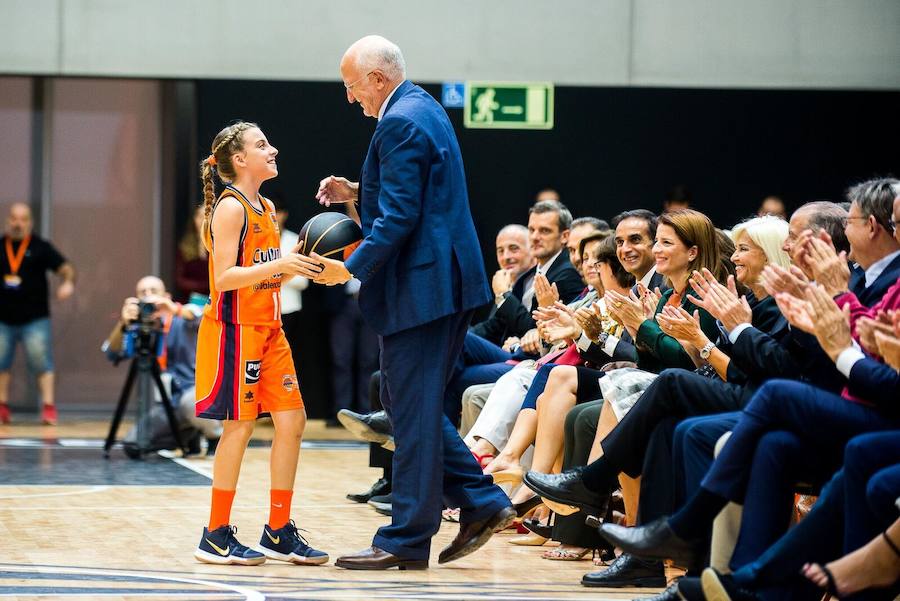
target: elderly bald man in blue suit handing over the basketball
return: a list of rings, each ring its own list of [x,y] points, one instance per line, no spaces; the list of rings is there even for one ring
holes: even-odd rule
[[[326,206],[345,203],[364,239],[346,263],[312,255],[308,277],[333,285],[352,274],[362,282],[359,304],[379,335],[381,401],[396,451],[391,524],[378,530],[371,548],[336,565],[422,569],[442,500],[462,511],[459,533],[439,563],[477,550],[515,517],[442,410],[472,313],[491,293],[444,109],[406,81],[400,49],[382,37],[354,43],[340,70],[347,100],[377,117],[378,126],[361,181],[327,177],[317,198]]]

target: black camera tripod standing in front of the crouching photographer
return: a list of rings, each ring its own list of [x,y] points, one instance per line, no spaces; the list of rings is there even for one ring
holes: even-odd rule
[[[144,418],[149,416],[152,407],[151,385],[156,386],[162,401],[163,409],[166,411],[166,418],[169,421],[169,428],[172,430],[172,437],[175,444],[181,449],[185,455],[188,449],[181,440],[178,432],[178,423],[175,420],[175,410],[172,408],[172,401],[169,394],[163,386],[160,377],[159,363],[156,360],[156,354],[152,352],[156,348],[156,344],[151,343],[153,335],[159,336],[159,332],[146,331],[143,328],[138,334],[139,343],[137,345],[137,354],[131,360],[128,367],[128,376],[125,378],[125,385],[122,387],[122,393],[119,395],[119,404],[116,406],[116,412],[109,424],[109,434],[106,436],[106,443],[103,445],[103,456],[109,459],[109,450],[116,441],[116,433],[119,430],[119,424],[122,422],[122,416],[125,414],[125,408],[128,406],[128,399],[131,398],[131,390],[134,387],[135,380],[138,382],[138,420],[137,420],[137,451],[138,456],[150,450],[147,436],[143,435],[141,424]]]

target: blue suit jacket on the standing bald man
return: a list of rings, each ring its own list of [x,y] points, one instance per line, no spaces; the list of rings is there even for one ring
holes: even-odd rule
[[[490,302],[453,126],[404,81],[375,128],[359,186],[363,242],[346,261],[363,317],[389,335]]]

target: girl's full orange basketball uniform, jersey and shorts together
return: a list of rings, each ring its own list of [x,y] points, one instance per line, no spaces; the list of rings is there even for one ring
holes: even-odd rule
[[[228,186],[216,206],[227,196],[244,208],[244,227],[234,264],[252,267],[280,258],[280,235],[272,203],[260,196],[260,210],[237,188]],[[303,407],[291,349],[281,330],[281,274],[237,290],[218,290],[211,231],[206,243],[212,249],[210,304],[203,312],[197,338],[197,416],[246,420],[256,419],[262,412]]]

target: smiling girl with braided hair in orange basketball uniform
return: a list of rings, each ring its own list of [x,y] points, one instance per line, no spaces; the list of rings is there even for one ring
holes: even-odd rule
[[[296,253],[281,256],[275,207],[259,195],[260,185],[278,175],[277,154],[255,124],[239,122],[219,132],[201,163],[210,304],[197,341],[196,411],[198,417],[225,420],[213,465],[209,524],[194,553],[207,563],[256,565],[266,557],[299,564],[328,561],[290,519],[306,413],[281,330],[279,290],[282,278],[296,275],[304,261]],[[225,183],[218,199],[213,171]],[[235,538],[230,514],[244,449],[261,412],[271,413],[275,438],[269,523],[259,553]]]

